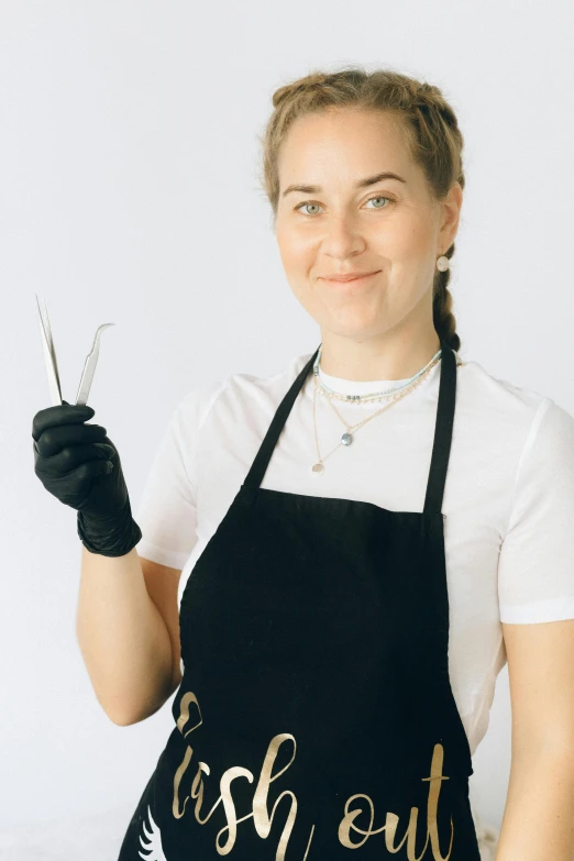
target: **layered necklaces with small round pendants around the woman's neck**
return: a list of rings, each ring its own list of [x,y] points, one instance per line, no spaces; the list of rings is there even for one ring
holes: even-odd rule
[[[430,362],[424,365],[424,367],[419,371],[415,376],[410,377],[410,379],[405,380],[399,386],[394,386],[391,388],[387,388],[383,391],[374,391],[368,395],[341,395],[339,391],[334,391],[333,389],[329,388],[323,380],[319,376],[319,362],[321,360],[321,346],[319,347],[319,352],[317,353],[317,358],[313,363],[313,380],[314,380],[314,389],[313,389],[313,427],[314,427],[314,442],[317,445],[317,463],[313,463],[313,465],[310,467],[311,475],[313,476],[320,476],[324,473],[324,461],[334,452],[336,451],[341,445],[349,446],[353,442],[354,434],[368,421],[376,418],[377,416],[380,416],[382,412],[384,412],[386,409],[393,406],[393,404],[396,404],[398,400],[401,400],[404,397],[406,397],[409,391],[412,391],[413,388],[419,386],[422,380],[430,374],[434,365],[440,361],[441,358],[442,350],[439,350],[430,360]],[[316,401],[317,401],[317,393],[320,391],[325,398],[330,407],[334,410],[338,418],[341,420],[341,422],[344,424],[346,430],[344,433],[342,433],[341,439],[328,454],[325,454],[323,457],[321,457],[321,453],[319,451],[319,439],[317,435],[317,415],[316,415]],[[362,419],[362,421],[356,422],[356,424],[350,424],[345,419],[341,416],[336,407],[334,406],[334,400],[342,400],[345,404],[376,404],[380,402],[382,400],[385,400],[385,406],[378,409],[376,412],[374,412],[372,416],[367,416],[366,419]]]

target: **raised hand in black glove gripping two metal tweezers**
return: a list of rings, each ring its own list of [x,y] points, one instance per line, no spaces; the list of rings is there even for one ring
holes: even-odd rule
[[[34,472],[48,493],[77,510],[78,534],[92,553],[122,556],[142,538],[132,518],[120,455],[91,407],[40,410],[32,422]]]

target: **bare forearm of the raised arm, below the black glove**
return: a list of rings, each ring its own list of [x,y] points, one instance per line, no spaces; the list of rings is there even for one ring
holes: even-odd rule
[[[103,556],[82,545],[76,633],[98,702],[114,724],[143,720],[166,702],[172,644],[135,548]]]

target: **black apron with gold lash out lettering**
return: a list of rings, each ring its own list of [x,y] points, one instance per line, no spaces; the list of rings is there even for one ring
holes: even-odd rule
[[[479,861],[449,677],[441,347],[422,512],[262,488],[318,350],[285,395],[186,584],[176,727],[119,861]]]

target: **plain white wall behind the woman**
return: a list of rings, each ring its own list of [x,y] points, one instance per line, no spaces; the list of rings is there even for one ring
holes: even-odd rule
[[[51,405],[34,294],[70,402],[97,327],[115,323],[88,402],[135,508],[187,391],[278,373],[318,343],[258,186],[273,91],[313,68],[391,67],[441,87],[465,136],[450,287],[463,360],[574,412],[572,9],[0,3],[1,828],[131,812],[173,728],[172,698],[112,724],[82,662],[76,514],[34,474],[32,419]],[[509,768],[505,667],[471,777],[496,828]]]

